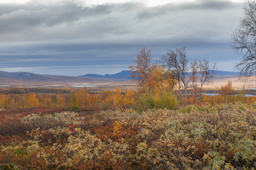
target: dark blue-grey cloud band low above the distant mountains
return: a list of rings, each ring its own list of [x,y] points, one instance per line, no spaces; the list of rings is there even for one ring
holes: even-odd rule
[[[176,44],[173,42],[156,43],[154,45],[146,45],[147,49],[151,48],[154,61],[159,61],[159,57],[164,55],[167,49],[175,49],[185,45],[187,47],[188,57],[192,61],[195,58],[201,60],[206,58],[210,62],[230,61],[233,57],[232,50],[228,49],[228,44],[204,44],[204,43],[183,43]],[[110,44],[110,45],[89,45],[89,44],[51,44],[51,45],[23,45],[22,47],[11,47],[8,56],[0,54],[0,63],[2,70],[36,72],[46,74],[49,70],[55,70],[52,74],[60,74],[56,69],[62,68],[62,74],[80,75],[86,73],[112,73],[113,68],[119,68],[116,72],[128,69],[128,65],[132,64],[132,60],[137,56],[137,52],[143,46],[139,43],[129,44]],[[215,49],[218,50],[215,50]],[[20,49],[20,50],[18,50]],[[23,49],[23,50],[21,50]],[[30,54],[30,52],[32,54]],[[41,51],[45,54],[41,55]],[[20,52],[16,55],[16,52]],[[28,55],[30,54],[30,55]],[[223,58],[223,56],[225,56]],[[108,67],[112,65],[112,67]],[[232,64],[229,64],[229,67]],[[101,69],[99,69],[102,66]],[[31,68],[32,67],[32,68]],[[46,68],[33,69],[34,67]],[[93,69],[97,67],[97,69]],[[26,69],[24,69],[26,68]],[[66,70],[64,69],[66,68]],[[78,72],[77,70],[81,71]],[[90,69],[89,69],[90,68]],[[228,67],[225,67],[227,69]],[[22,70],[23,69],[23,70]],[[32,70],[32,71],[31,71]],[[47,73],[48,74],[48,73]]]

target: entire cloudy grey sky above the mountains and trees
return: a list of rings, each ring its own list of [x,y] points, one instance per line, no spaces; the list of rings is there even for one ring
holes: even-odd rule
[[[188,59],[235,71],[231,34],[242,0],[0,0],[0,70],[79,76],[128,69],[139,50],[154,62]]]

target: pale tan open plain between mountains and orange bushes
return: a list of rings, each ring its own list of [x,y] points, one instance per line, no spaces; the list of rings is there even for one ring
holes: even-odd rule
[[[255,81],[243,81],[238,76],[218,76],[215,77],[209,84],[203,86],[203,89],[210,93],[217,93],[221,86],[225,86],[228,80],[232,81],[234,90],[242,90],[243,86],[248,91],[256,89]],[[79,89],[87,87],[90,91],[106,91],[121,87],[126,89],[137,89],[136,81],[127,79],[90,79],[90,80],[68,80],[68,81],[28,81],[0,78],[0,89],[17,88],[50,88],[50,89]],[[253,92],[254,94],[254,92]]]

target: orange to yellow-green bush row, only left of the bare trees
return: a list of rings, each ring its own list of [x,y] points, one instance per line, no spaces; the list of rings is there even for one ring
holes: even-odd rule
[[[166,106],[164,105],[166,103]],[[167,106],[168,105],[168,106]],[[177,108],[176,96],[170,92],[152,95],[149,91],[100,91],[90,93],[87,88],[70,91],[69,94],[0,94],[0,108]]]

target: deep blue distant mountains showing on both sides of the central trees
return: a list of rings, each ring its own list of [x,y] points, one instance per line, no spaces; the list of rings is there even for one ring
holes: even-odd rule
[[[235,76],[238,75],[238,72],[225,72],[225,71],[216,71],[216,76]],[[122,72],[119,72],[117,74],[85,74],[80,77],[88,77],[88,78],[105,78],[105,79],[132,79],[131,78],[131,72],[129,70],[124,70]]]

